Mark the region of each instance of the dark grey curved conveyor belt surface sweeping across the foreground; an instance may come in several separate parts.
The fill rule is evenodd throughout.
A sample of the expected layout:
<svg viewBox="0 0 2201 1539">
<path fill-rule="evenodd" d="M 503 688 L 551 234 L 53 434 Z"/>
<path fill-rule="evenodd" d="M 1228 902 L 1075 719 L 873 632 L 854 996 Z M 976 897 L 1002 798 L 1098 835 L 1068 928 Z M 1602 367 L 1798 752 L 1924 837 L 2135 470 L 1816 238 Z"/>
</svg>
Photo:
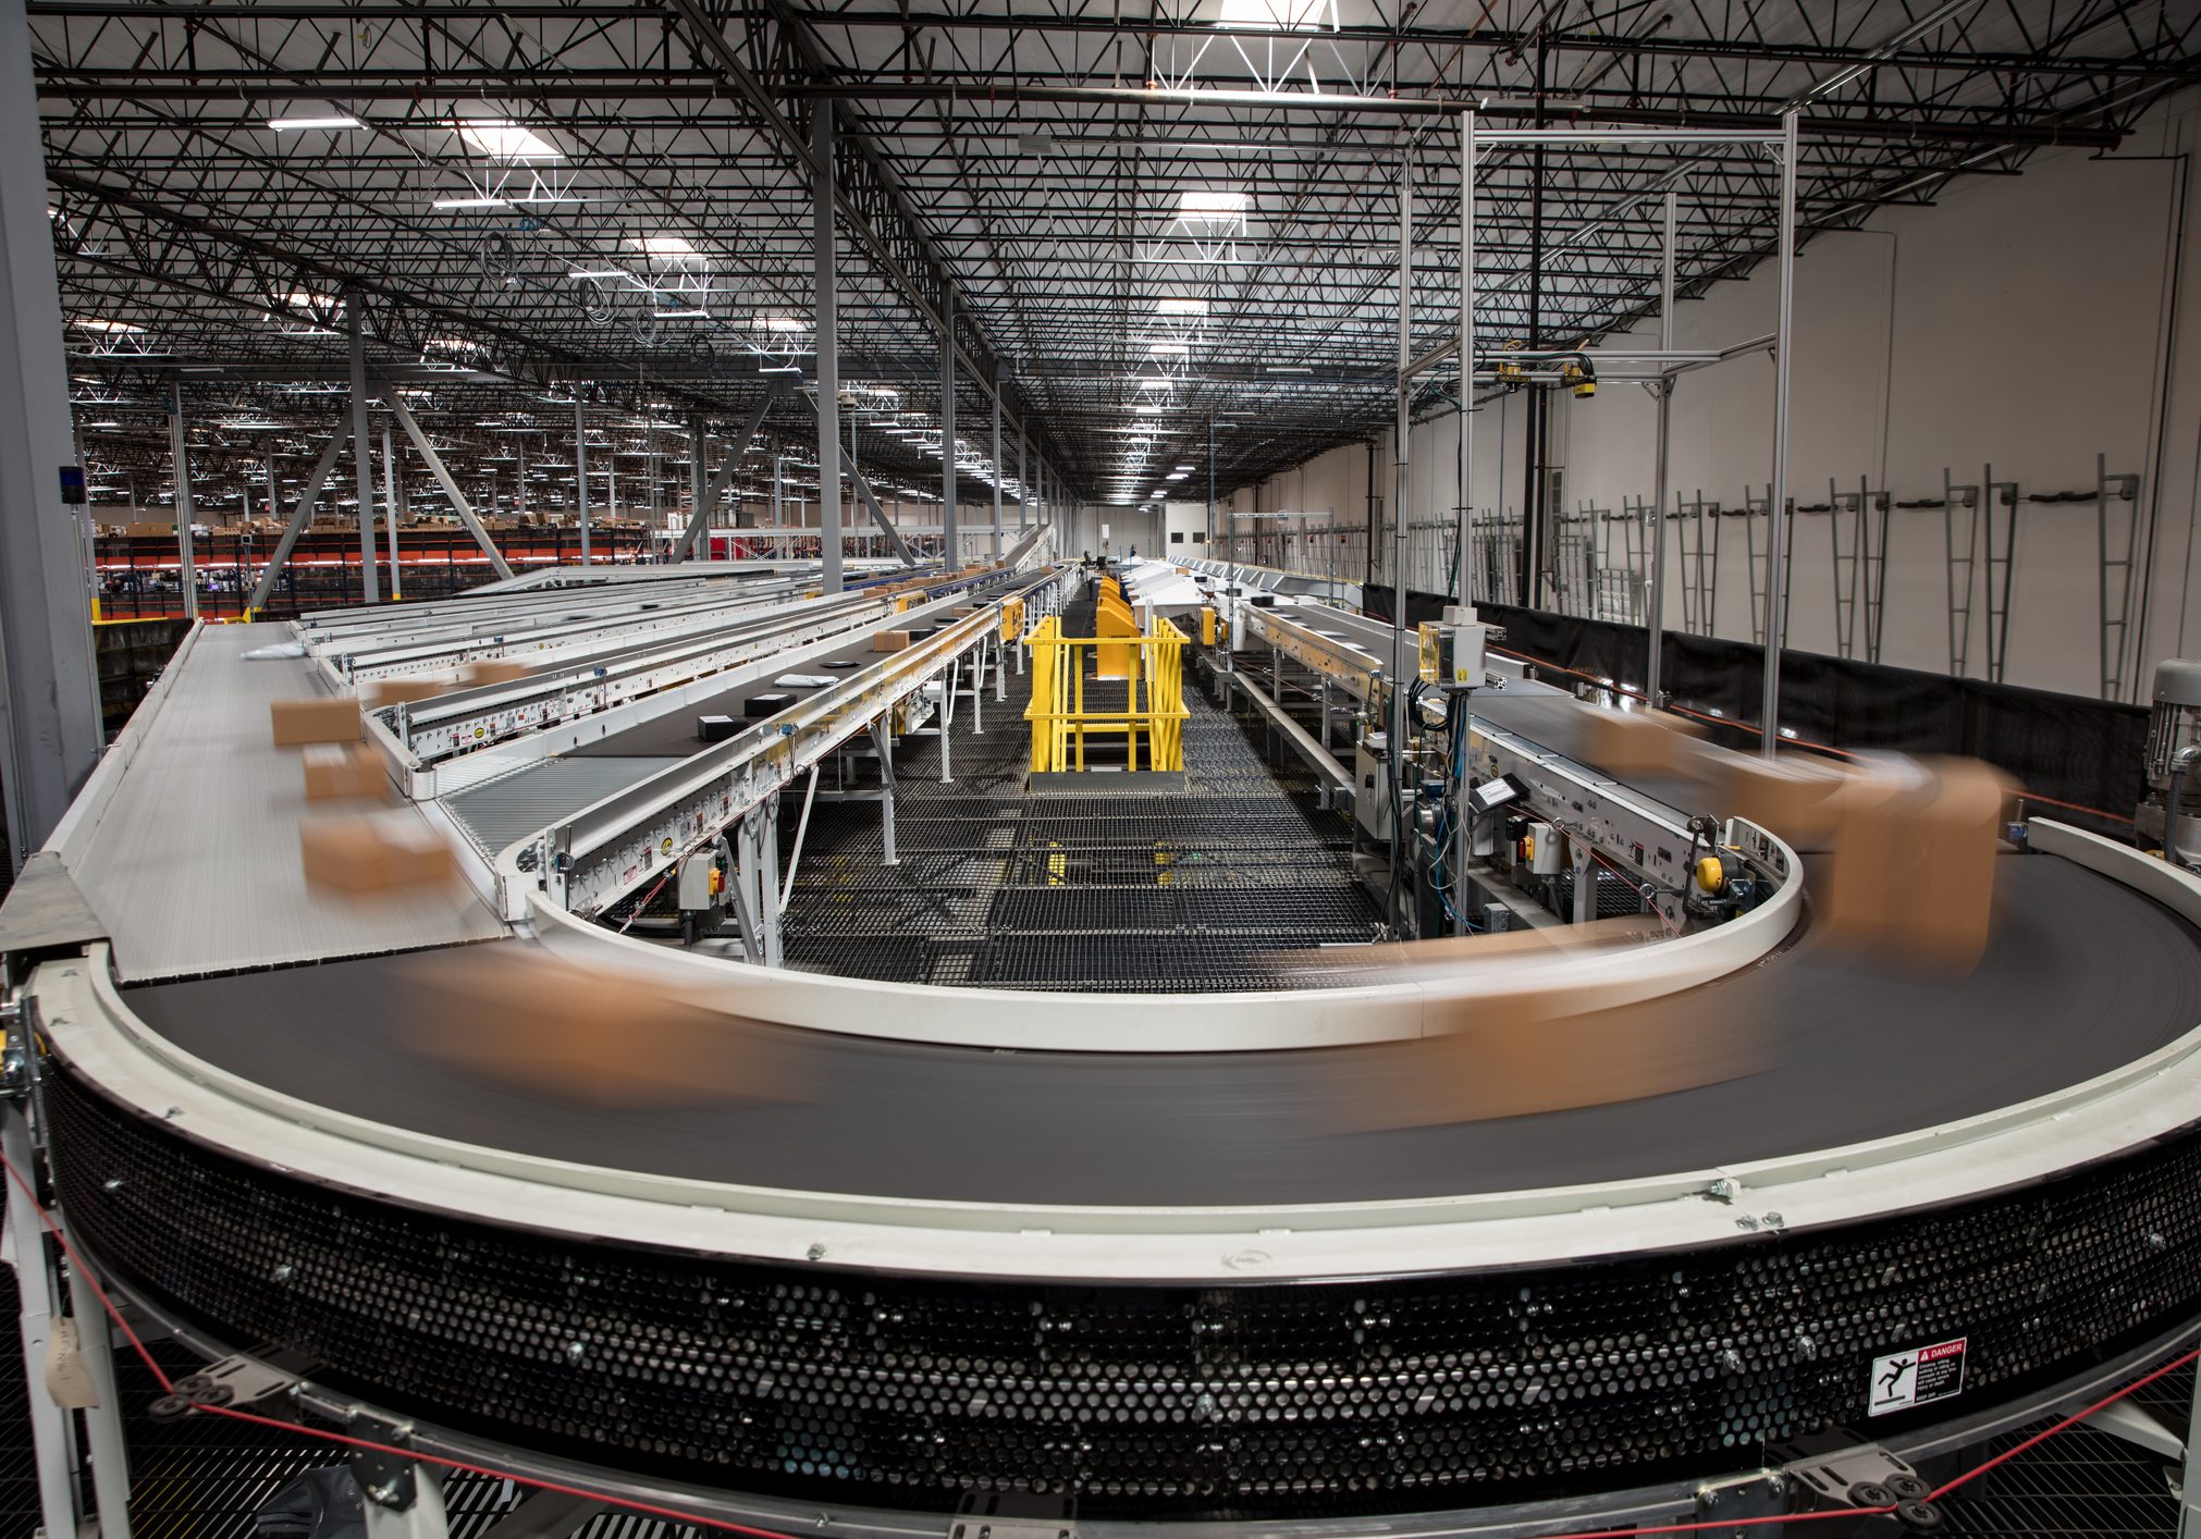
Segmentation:
<svg viewBox="0 0 2201 1539">
<path fill-rule="evenodd" d="M 1767 1066 L 1578 1112 L 1323 1134 L 1395 1048 L 1228 1057 L 801 1044 L 810 1096 L 614 1114 L 425 1061 L 390 960 L 130 991 L 178 1046 L 376 1121 L 559 1160 L 847 1191 L 1070 1204 L 1345 1202 L 1622 1180 L 1800 1154 L 2005 1107 L 2201 1022 L 2201 936 L 2054 856 L 2010 854 L 2003 918 L 1961 984 L 1884 975 L 1809 936 L 1699 1011 Z M 1708 1072 L 1719 1072 L 1717 1063 Z"/>
</svg>

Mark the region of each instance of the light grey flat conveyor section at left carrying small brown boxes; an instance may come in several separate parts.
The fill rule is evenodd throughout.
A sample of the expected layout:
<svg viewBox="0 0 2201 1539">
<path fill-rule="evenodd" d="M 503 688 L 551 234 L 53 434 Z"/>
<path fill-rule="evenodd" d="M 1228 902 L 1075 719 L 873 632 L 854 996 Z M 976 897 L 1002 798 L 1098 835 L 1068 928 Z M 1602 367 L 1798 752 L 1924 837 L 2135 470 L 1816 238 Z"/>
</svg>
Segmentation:
<svg viewBox="0 0 2201 1539">
<path fill-rule="evenodd" d="M 295 749 L 269 735 L 269 702 L 324 694 L 297 658 L 249 661 L 286 625 L 207 625 L 158 705 L 70 874 L 114 936 L 125 980 L 326 956 L 405 951 L 504 934 L 471 892 L 346 903 L 306 887 L 306 808 Z M 418 817 L 418 812 L 407 812 Z"/>
</svg>

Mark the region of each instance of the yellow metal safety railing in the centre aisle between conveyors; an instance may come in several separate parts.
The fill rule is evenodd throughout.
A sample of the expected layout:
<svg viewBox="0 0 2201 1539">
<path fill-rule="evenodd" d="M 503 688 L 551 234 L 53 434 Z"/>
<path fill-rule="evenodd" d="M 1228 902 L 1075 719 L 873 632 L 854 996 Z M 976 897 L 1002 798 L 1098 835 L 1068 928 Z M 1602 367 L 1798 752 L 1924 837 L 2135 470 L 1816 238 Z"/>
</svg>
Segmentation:
<svg viewBox="0 0 2201 1539">
<path fill-rule="evenodd" d="M 1184 718 L 1191 711 L 1184 707 L 1182 630 L 1158 619 L 1145 636 L 1136 630 L 1129 636 L 1065 636 L 1061 616 L 1050 614 L 1032 627 L 1026 645 L 1032 650 L 1032 705 L 1023 720 L 1032 724 L 1034 775 L 1083 771 L 1085 738 L 1094 733 L 1125 740 L 1125 768 L 1184 768 Z M 1085 647 L 1094 650 L 1092 683 L 1120 683 L 1123 709 L 1098 698 L 1085 702 Z M 1123 672 L 1109 674 L 1103 658 L 1116 661 Z M 1145 766 L 1140 742 L 1147 744 Z"/>
</svg>

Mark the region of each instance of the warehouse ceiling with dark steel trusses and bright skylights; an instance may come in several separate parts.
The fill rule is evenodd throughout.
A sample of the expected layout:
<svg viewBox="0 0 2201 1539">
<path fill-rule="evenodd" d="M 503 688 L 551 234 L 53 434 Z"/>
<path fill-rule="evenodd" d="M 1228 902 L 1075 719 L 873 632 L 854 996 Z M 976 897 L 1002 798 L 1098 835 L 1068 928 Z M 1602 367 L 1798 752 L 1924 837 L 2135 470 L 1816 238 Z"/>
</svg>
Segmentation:
<svg viewBox="0 0 2201 1539">
<path fill-rule="evenodd" d="M 2201 79 L 2183 0 L 29 9 L 73 370 L 97 407 L 79 432 L 132 476 L 156 473 L 178 374 L 202 473 L 313 454 L 339 412 L 313 392 L 346 374 L 346 295 L 372 372 L 407 381 L 462 476 L 533 434 L 548 478 L 574 399 L 601 405 L 614 456 L 634 451 L 621 434 L 671 449 L 691 418 L 744 423 L 812 372 L 823 99 L 865 476 L 938 493 L 951 315 L 966 498 L 1019 473 L 979 427 L 999 390 L 1008 440 L 1023 425 L 1072 495 L 1140 502 L 1206 493 L 1211 425 L 1219 491 L 1384 427 L 1400 170 L 1424 354 L 1453 330 L 1468 106 L 1488 125 L 1798 110 L 1809 240 L 2043 148 L 2113 148 Z M 1547 348 L 1640 324 L 1666 189 L 1677 291 L 1745 275 L 1774 244 L 1776 183 L 1752 145 L 1492 150 L 1479 332 Z M 1457 385 L 1431 370 L 1420 390 L 1428 410 Z M 814 407 L 788 390 L 762 432 L 808 458 Z"/>
</svg>

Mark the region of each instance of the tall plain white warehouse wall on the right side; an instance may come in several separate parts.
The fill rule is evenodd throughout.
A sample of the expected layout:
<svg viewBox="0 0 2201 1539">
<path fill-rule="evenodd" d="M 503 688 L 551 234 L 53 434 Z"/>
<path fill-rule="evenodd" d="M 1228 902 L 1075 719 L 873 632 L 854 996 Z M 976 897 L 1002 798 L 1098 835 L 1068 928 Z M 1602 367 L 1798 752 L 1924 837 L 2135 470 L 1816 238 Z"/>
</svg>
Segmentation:
<svg viewBox="0 0 2201 1539">
<path fill-rule="evenodd" d="M 2201 92 L 2186 92 L 2113 156 L 2047 152 L 2016 178 L 1963 178 L 1937 207 L 1884 209 L 1862 231 L 1816 236 L 1796 262 L 1789 493 L 1798 504 L 1827 502 L 1829 478 L 1842 489 L 1862 478 L 1897 502 L 1939 498 L 1943 467 L 1957 482 L 1976 482 L 1992 465 L 1996 480 L 2016 480 L 2025 495 L 2091 489 L 2095 454 L 2106 456 L 2111 473 L 2142 476 L 2146 579 L 2133 594 L 2131 652 L 2139 665 L 2122 665 L 2126 698 L 2135 685 L 2146 698 L 2157 658 L 2201 652 L 2201 207 L 2181 189 L 2188 163 L 2161 159 L 2197 145 Z M 1677 310 L 1675 346 L 1712 348 L 1770 332 L 1774 299 L 1772 264 L 1723 282 Z M 1635 341 L 1655 343 L 1655 332 Z M 1701 489 L 1726 506 L 1741 506 L 1745 487 L 1763 495 L 1772 379 L 1772 359 L 1754 352 L 1679 381 L 1675 493 Z M 1479 509 L 1521 506 L 1521 418 L 1519 401 L 1477 412 Z M 1457 416 L 1415 427 L 1411 520 L 1453 515 L 1457 443 Z M 1387 449 L 1378 451 L 1376 482 L 1389 506 Z M 1565 467 L 1569 509 L 1620 509 L 1624 498 L 1649 495 L 1653 449 L 1655 407 L 1640 385 L 1609 381 L 1594 401 L 1556 396 L 1552 460 Z M 1365 447 L 1336 449 L 1252 489 L 1255 500 L 1266 509 L 1334 502 L 1360 522 L 1365 467 Z M 1723 520 L 1723 533 L 1719 632 L 1748 638 L 1741 520 Z M 1946 672 L 1941 511 L 1895 509 L 1888 553 L 1882 661 Z M 1794 520 L 1794 561 L 1789 645 L 1833 652 L 1825 515 Z M 2010 683 L 2100 691 L 2100 570 L 2091 500 L 2018 509 Z M 1988 650 L 1983 581 L 1981 570 L 1968 667 L 1974 676 Z M 1675 581 L 1666 623 L 1679 621 Z"/>
</svg>

